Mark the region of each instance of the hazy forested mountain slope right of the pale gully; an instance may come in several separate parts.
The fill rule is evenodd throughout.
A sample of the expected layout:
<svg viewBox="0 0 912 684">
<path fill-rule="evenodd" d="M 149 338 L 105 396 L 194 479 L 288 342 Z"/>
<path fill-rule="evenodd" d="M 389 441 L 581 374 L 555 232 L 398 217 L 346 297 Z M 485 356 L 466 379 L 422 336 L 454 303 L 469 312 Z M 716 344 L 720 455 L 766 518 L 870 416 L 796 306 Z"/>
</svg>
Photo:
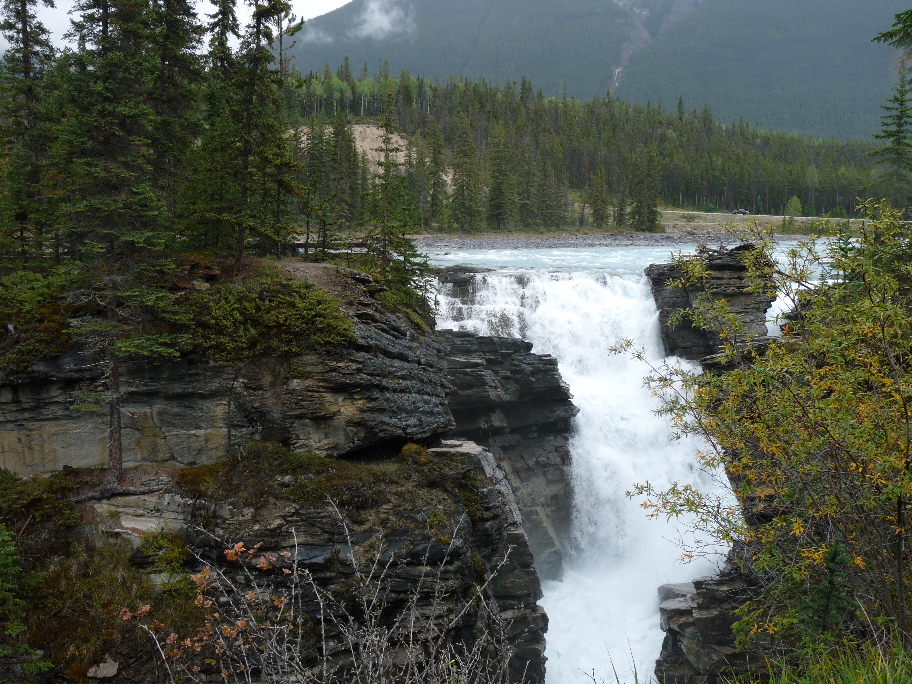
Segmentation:
<svg viewBox="0 0 912 684">
<path fill-rule="evenodd" d="M 893 54 L 871 38 L 903 0 L 714 0 L 634 54 L 617 95 L 719 120 L 862 139 L 880 128 L 872 106 L 895 80 Z"/>
</svg>

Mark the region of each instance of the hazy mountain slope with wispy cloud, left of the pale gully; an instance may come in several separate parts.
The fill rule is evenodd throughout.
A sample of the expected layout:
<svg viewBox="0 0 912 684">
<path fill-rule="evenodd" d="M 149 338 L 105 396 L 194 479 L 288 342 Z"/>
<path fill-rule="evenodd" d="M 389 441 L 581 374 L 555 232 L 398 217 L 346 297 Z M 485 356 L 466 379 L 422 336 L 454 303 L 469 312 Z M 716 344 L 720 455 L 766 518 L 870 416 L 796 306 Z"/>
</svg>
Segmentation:
<svg viewBox="0 0 912 684">
<path fill-rule="evenodd" d="M 308 22 L 293 52 L 304 73 L 348 56 L 356 68 L 388 61 L 429 77 L 534 75 L 549 94 L 566 81 L 590 96 L 604 94 L 622 50 L 648 40 L 643 33 L 610 0 L 355 0 Z"/>
</svg>

